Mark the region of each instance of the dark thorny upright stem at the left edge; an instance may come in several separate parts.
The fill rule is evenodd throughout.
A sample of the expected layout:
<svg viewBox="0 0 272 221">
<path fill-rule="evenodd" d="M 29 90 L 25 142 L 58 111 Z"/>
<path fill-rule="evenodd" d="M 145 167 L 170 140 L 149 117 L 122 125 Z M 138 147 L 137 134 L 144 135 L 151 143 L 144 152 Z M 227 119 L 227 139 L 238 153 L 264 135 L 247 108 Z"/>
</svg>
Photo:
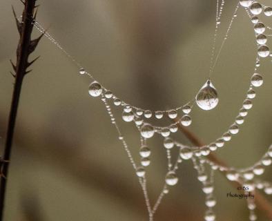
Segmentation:
<svg viewBox="0 0 272 221">
<path fill-rule="evenodd" d="M 17 22 L 17 28 L 19 30 L 20 38 L 19 44 L 17 46 L 17 63 L 14 65 L 12 63 L 12 67 L 14 69 L 15 74 L 12 74 L 15 78 L 14 90 L 12 95 L 12 103 L 10 106 L 10 116 L 8 119 L 8 130 L 6 134 L 6 144 L 3 153 L 3 160 L 10 162 L 10 154 L 12 151 L 12 140 L 14 135 L 14 127 L 17 117 L 17 110 L 19 106 L 19 99 L 21 93 L 21 86 L 23 83 L 23 77 L 29 73 L 30 71 L 27 68 L 36 60 L 28 62 L 29 55 L 35 50 L 37 44 L 39 43 L 39 39 L 31 40 L 33 23 L 32 20 L 35 19 L 37 15 L 37 6 L 35 6 L 36 0 L 25 0 L 22 1 L 24 5 L 22 21 L 17 19 L 15 12 L 14 17 Z M 8 167 L 10 163 L 4 163 L 2 172 L 3 176 L 1 176 L 1 189 L 0 189 L 0 221 L 3 220 L 3 209 L 5 202 L 5 193 L 6 193 L 6 184 L 8 178 Z"/>
</svg>

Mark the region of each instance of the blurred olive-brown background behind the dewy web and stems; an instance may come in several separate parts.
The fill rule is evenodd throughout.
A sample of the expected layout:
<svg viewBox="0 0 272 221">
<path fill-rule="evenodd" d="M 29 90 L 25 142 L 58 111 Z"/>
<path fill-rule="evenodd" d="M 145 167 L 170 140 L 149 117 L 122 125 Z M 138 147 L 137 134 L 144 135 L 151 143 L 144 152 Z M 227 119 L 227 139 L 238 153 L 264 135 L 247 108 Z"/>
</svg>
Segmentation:
<svg viewBox="0 0 272 221">
<path fill-rule="evenodd" d="M 191 100 L 206 81 L 215 26 L 215 0 L 81 0 L 39 1 L 38 21 L 95 78 L 135 106 L 164 110 Z M 271 3 L 271 1 L 263 1 Z M 222 41 L 237 1 L 227 1 Z M 0 1 L 0 146 L 3 150 L 14 79 L 18 33 L 11 5 Z M 269 17 L 262 21 L 272 26 Z M 35 31 L 35 36 L 38 32 Z M 270 40 L 270 39 L 269 39 Z M 218 49 L 219 44 L 217 44 Z M 194 108 L 190 129 L 203 142 L 222 135 L 235 119 L 255 65 L 255 36 L 240 8 L 212 81 L 220 95 L 213 111 Z M 41 58 L 23 82 L 12 150 L 5 220 L 148 220 L 144 197 L 133 167 L 99 99 L 88 95 L 88 77 L 46 38 L 35 55 Z M 33 55 L 32 57 L 35 57 Z M 216 154 L 243 167 L 259 160 L 272 142 L 271 59 L 262 59 L 264 85 L 253 108 L 233 137 Z M 135 160 L 139 135 L 120 120 Z M 188 140 L 177 133 L 177 139 Z M 164 184 L 166 155 L 162 140 L 152 142 L 148 166 L 151 202 Z M 191 162 L 179 169 L 179 184 L 159 207 L 155 220 L 203 220 L 204 193 Z M 272 181 L 271 168 L 264 180 Z M 226 198 L 235 189 L 215 173 L 217 220 L 248 220 L 244 200 Z M 271 196 L 268 197 L 270 202 Z M 258 212 L 260 220 L 266 220 Z"/>
</svg>

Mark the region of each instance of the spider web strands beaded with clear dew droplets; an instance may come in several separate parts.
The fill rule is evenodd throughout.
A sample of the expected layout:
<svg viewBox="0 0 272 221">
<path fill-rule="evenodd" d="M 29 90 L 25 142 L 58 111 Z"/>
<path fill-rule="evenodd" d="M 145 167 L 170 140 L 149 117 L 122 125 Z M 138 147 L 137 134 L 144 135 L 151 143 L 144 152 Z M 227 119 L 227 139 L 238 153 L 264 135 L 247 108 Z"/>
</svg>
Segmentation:
<svg viewBox="0 0 272 221">
<path fill-rule="evenodd" d="M 219 1 L 217 1 L 217 5 L 218 5 L 218 2 Z M 247 2 L 249 4 L 249 1 L 240 1 L 240 4 L 242 6 L 244 6 L 245 2 Z M 254 7 L 251 5 L 252 5 L 252 3 L 250 4 L 250 6 L 246 6 L 246 7 L 247 8 L 250 7 L 249 10 L 251 13 L 253 13 L 253 15 L 258 15 L 258 14 L 256 14 L 256 12 L 258 11 L 258 10 L 256 10 L 256 7 L 255 7 L 256 4 L 254 4 Z M 222 1 L 221 6 L 224 6 L 224 1 Z M 262 8 L 263 7 L 264 6 L 262 6 Z M 220 15 L 222 13 L 222 7 L 217 6 L 217 10 L 218 10 L 218 8 L 220 8 L 220 12 L 217 11 L 216 28 L 220 24 Z M 246 8 L 246 10 L 247 10 L 247 8 Z M 249 12 L 249 10 L 247 10 L 247 12 Z M 233 19 L 237 16 L 236 11 L 237 11 L 237 8 L 235 8 L 235 14 L 233 15 L 233 18 L 231 19 L 231 24 L 233 23 Z M 259 9 L 259 11 L 260 11 L 260 9 Z M 270 16 L 268 11 L 269 10 L 267 8 L 264 8 L 264 14 L 267 16 Z M 260 21 L 257 17 L 252 17 L 252 22 L 255 24 L 255 26 L 254 26 L 255 33 L 258 34 L 257 38 L 256 38 L 257 43 L 260 44 L 261 46 L 265 46 L 264 44 L 266 43 L 266 37 L 262 36 L 264 33 L 264 30 L 265 30 L 265 26 L 262 26 L 262 24 L 260 24 Z M 52 35 L 50 35 L 48 32 L 46 32 L 46 30 L 44 30 L 39 25 L 39 23 L 37 23 L 37 21 L 35 21 L 35 26 L 38 30 L 40 30 L 41 32 L 44 32 L 46 37 L 48 37 L 48 39 L 50 39 L 50 41 L 52 41 L 59 49 L 61 49 L 65 53 L 66 56 L 70 57 L 70 59 L 72 59 L 72 61 L 74 61 L 77 64 L 77 66 L 80 68 L 79 73 L 81 73 L 81 75 L 88 75 L 93 80 L 95 80 L 93 78 L 93 76 L 90 75 L 90 73 L 88 73 L 86 70 L 84 70 L 84 68 L 79 63 L 77 63 L 77 61 L 75 61 L 75 59 L 73 59 L 72 56 L 70 56 L 68 54 L 68 52 L 66 52 L 66 50 L 64 50 L 64 48 L 62 48 L 60 46 L 60 44 L 57 43 L 57 41 L 55 41 L 55 39 L 52 37 Z M 227 30 L 226 37 L 228 36 L 230 27 L 231 26 L 229 26 L 229 28 Z M 269 36 L 269 35 L 267 35 L 267 36 Z M 224 40 L 226 39 L 226 37 L 224 38 Z M 215 36 L 215 39 L 216 39 L 216 36 Z M 224 45 L 224 42 L 223 42 L 223 45 Z M 222 47 L 220 47 L 220 48 L 222 48 Z M 268 55 L 269 55 L 269 49 L 267 46 L 262 47 L 262 48 L 259 47 L 258 48 L 258 58 L 256 60 L 258 60 L 259 57 L 267 57 Z M 217 59 L 215 59 L 215 60 L 217 60 Z M 257 67 L 259 65 L 260 64 L 256 63 L 255 71 L 257 70 Z M 213 70 L 213 68 L 212 68 L 212 70 Z M 175 133 L 177 131 L 177 127 L 179 126 L 179 124 L 182 124 L 183 126 L 189 126 L 191 124 L 191 117 L 188 115 L 188 113 L 191 112 L 192 101 L 188 102 L 188 104 L 181 106 L 179 108 L 173 108 L 170 111 L 155 111 L 155 114 L 154 114 L 153 111 L 143 110 L 142 108 L 137 108 L 136 106 L 131 106 L 130 104 L 123 102 L 122 100 L 118 99 L 115 95 L 113 95 L 113 93 L 111 93 L 110 90 L 107 90 L 106 88 L 104 88 L 104 86 L 101 86 L 101 84 L 99 84 L 97 81 L 94 81 L 92 84 L 90 84 L 89 94 L 92 95 L 93 97 L 98 97 L 101 95 L 101 100 L 104 102 L 104 104 L 106 106 L 106 109 L 108 111 L 108 115 L 110 116 L 112 123 L 115 125 L 115 128 L 117 129 L 119 140 L 122 141 L 122 144 L 123 144 L 124 149 L 128 155 L 128 158 L 130 159 L 131 164 L 133 164 L 133 168 L 135 169 L 135 173 L 139 177 L 139 183 L 141 184 L 142 190 L 144 192 L 144 197 L 145 197 L 146 206 L 148 209 L 148 214 L 149 214 L 150 220 L 153 220 L 153 214 L 157 210 L 159 203 L 161 202 L 163 196 L 166 193 L 168 193 L 168 186 L 174 186 L 175 184 L 177 184 L 178 177 L 176 175 L 176 171 L 178 168 L 178 164 L 181 163 L 182 160 L 189 160 L 189 159 L 193 160 L 194 164 L 197 164 L 197 162 L 198 162 L 199 166 L 195 166 L 195 169 L 197 169 L 198 180 L 200 180 L 200 182 L 203 182 L 203 191 L 207 195 L 206 196 L 206 205 L 210 209 L 208 209 L 204 218 L 205 218 L 205 220 L 208 220 L 208 221 L 215 220 L 215 215 L 213 213 L 213 210 L 211 209 L 211 207 L 213 207 L 216 204 L 216 201 L 212 195 L 213 182 L 211 182 L 211 181 L 213 180 L 213 175 L 212 175 L 213 172 L 211 172 L 211 175 L 210 175 L 210 182 L 206 182 L 207 175 L 204 172 L 204 163 L 206 162 L 209 166 L 211 166 L 211 171 L 216 170 L 216 169 L 220 169 L 222 171 L 223 170 L 228 171 L 228 173 L 226 173 L 226 174 L 230 180 L 234 179 L 233 176 L 231 175 L 231 174 L 233 174 L 233 169 L 226 169 L 222 166 L 215 165 L 213 162 L 208 162 L 206 159 L 203 159 L 202 157 L 208 155 L 210 153 L 210 151 L 215 151 L 218 147 L 224 146 L 224 142 L 231 140 L 231 136 L 239 132 L 238 124 L 242 124 L 244 122 L 244 117 L 247 115 L 247 111 L 249 109 L 251 109 L 251 107 L 252 107 L 251 99 L 253 99 L 255 97 L 255 91 L 253 90 L 253 87 L 261 86 L 262 83 L 263 83 L 262 76 L 258 73 L 254 73 L 253 76 L 251 77 L 251 86 L 250 86 L 249 91 L 246 95 L 246 99 L 243 102 L 240 113 L 237 116 L 237 118 L 235 119 L 235 123 L 230 126 L 229 131 L 224 133 L 224 135 L 222 135 L 222 137 L 217 139 L 215 142 L 212 142 L 211 144 L 209 144 L 207 146 L 202 146 L 200 148 L 195 147 L 195 146 L 189 147 L 189 146 L 185 146 L 184 144 L 179 144 L 178 142 L 175 142 L 170 137 L 171 133 Z M 208 96 L 211 95 L 211 97 L 205 97 L 207 95 Z M 133 160 L 133 156 L 130 153 L 130 150 L 128 148 L 128 144 L 124 140 L 124 136 L 122 135 L 121 131 L 119 130 L 119 126 L 117 126 L 115 117 L 113 116 L 113 113 L 111 111 L 110 105 L 107 102 L 107 99 L 113 99 L 113 104 L 115 104 L 115 106 L 122 106 L 123 110 L 124 110 L 122 118 L 124 119 L 124 121 L 125 122 L 135 122 L 135 125 L 139 129 L 140 134 L 141 134 L 141 140 L 142 140 L 142 146 L 139 150 L 139 154 L 142 157 L 141 161 L 140 161 L 141 166 L 137 166 L 137 164 Z M 218 102 L 217 91 L 215 90 L 215 87 L 213 86 L 213 84 L 211 83 L 211 81 L 209 79 L 206 82 L 206 84 L 200 89 L 200 92 L 197 94 L 196 102 L 197 102 L 197 105 L 200 106 L 200 108 L 204 107 L 204 108 L 202 108 L 204 110 L 211 109 L 217 105 L 217 102 Z M 185 118 L 185 120 L 179 120 L 177 123 L 171 124 L 168 127 L 153 126 L 151 124 L 147 124 L 142 119 L 142 117 L 149 119 L 153 115 L 155 115 L 155 117 L 157 119 L 162 119 L 162 117 L 164 117 L 164 115 L 167 115 L 170 119 L 175 119 L 177 117 L 177 111 L 179 111 L 179 110 L 182 110 L 182 112 L 185 114 L 183 116 Z M 165 178 L 166 184 L 164 185 L 162 192 L 159 194 L 159 198 L 157 199 L 157 202 L 155 203 L 155 205 L 152 208 L 152 206 L 150 206 L 150 201 L 149 201 L 148 193 L 147 193 L 147 189 L 146 189 L 146 171 L 144 168 L 146 166 L 150 165 L 150 158 L 149 157 L 150 157 L 150 153 L 151 153 L 148 146 L 146 146 L 146 139 L 153 137 L 153 135 L 155 133 L 159 133 L 160 135 L 162 135 L 162 137 L 165 137 L 164 138 L 164 147 L 166 148 L 166 158 L 168 160 L 168 173 L 166 174 L 166 178 Z M 179 156 L 177 157 L 177 161 L 175 162 L 175 164 L 172 164 L 171 163 L 171 148 L 173 148 L 174 146 L 177 146 L 177 148 L 179 148 Z M 259 162 L 254 164 L 253 167 L 251 167 L 253 173 L 255 173 L 255 174 L 259 173 L 257 175 L 261 174 L 262 169 L 260 169 L 260 162 L 262 162 L 262 164 L 264 164 L 265 166 L 269 165 L 269 159 L 267 159 L 268 156 L 271 157 L 271 155 L 269 155 L 269 153 L 271 153 L 271 151 L 266 153 L 265 156 L 262 157 L 262 160 L 260 160 Z M 271 161 L 271 159 L 270 159 L 270 161 Z M 243 171 L 243 173 L 240 171 L 237 171 L 237 173 L 239 174 L 238 177 L 242 177 L 242 175 L 240 175 L 240 174 L 243 174 L 243 177 L 246 176 L 246 179 L 248 179 L 249 177 L 252 177 L 252 174 L 247 173 L 247 172 L 249 172 L 249 170 Z M 237 177 L 237 175 L 235 174 L 234 177 Z M 269 192 L 269 185 L 267 184 L 267 182 L 263 185 L 261 185 L 260 182 L 258 182 L 258 184 L 259 184 L 259 187 L 265 186 L 264 189 L 265 189 L 266 193 L 271 192 L 271 191 Z M 254 206 L 252 206 L 252 204 L 251 204 L 251 206 L 249 206 L 249 207 L 253 208 Z M 255 214 L 253 214 L 253 215 L 251 214 L 250 220 L 255 220 L 255 219 L 253 219 L 254 215 Z"/>
</svg>

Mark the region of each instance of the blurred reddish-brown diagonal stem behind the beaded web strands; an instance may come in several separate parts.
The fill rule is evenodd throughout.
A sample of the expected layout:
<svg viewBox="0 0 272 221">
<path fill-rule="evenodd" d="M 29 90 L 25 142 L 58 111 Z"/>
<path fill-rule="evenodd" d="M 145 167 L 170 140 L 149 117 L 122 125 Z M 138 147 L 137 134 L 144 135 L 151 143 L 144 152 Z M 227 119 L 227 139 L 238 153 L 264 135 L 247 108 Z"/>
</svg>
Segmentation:
<svg viewBox="0 0 272 221">
<path fill-rule="evenodd" d="M 177 124 L 179 131 L 182 131 L 182 133 L 184 133 L 184 135 L 188 138 L 188 140 L 191 141 L 192 144 L 194 144 L 195 146 L 204 146 L 204 143 L 200 141 L 200 139 L 193 134 L 191 131 L 189 131 L 187 128 L 185 128 L 184 126 Z M 226 163 L 222 160 L 220 160 L 214 153 L 210 153 L 207 156 L 208 160 L 210 160 L 211 162 L 215 162 L 216 164 L 220 165 L 220 166 L 224 166 L 227 167 Z M 224 171 L 220 171 L 222 173 L 225 173 Z M 231 184 L 233 184 L 235 187 L 240 186 L 240 182 L 235 182 L 232 181 Z M 269 220 L 272 220 L 272 206 L 269 203 L 268 200 L 266 200 L 266 198 L 264 198 L 263 195 L 261 195 L 258 191 L 255 191 L 255 204 L 258 206 L 258 209 L 260 209 L 260 211 L 263 211 L 264 214 L 266 215 L 267 218 L 269 218 Z"/>
</svg>

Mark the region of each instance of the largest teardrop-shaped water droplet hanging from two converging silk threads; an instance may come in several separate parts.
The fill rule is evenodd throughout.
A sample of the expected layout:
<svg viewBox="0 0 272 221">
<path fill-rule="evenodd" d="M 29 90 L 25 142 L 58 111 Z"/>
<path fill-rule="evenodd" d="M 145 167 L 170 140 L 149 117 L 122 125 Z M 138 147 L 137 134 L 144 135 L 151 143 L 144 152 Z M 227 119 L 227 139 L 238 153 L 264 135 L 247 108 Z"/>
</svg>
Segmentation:
<svg viewBox="0 0 272 221">
<path fill-rule="evenodd" d="M 218 95 L 215 87 L 210 80 L 206 81 L 196 96 L 197 106 L 202 110 L 208 111 L 218 104 Z"/>
</svg>

